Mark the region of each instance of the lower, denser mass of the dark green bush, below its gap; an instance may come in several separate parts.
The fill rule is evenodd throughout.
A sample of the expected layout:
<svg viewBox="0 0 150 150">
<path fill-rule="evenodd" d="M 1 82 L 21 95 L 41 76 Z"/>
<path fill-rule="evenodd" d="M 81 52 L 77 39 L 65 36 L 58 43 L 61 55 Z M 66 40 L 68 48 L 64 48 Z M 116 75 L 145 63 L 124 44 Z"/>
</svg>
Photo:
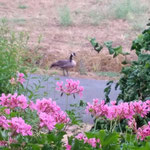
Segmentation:
<svg viewBox="0 0 150 150">
<path fill-rule="evenodd" d="M 122 69 L 123 76 L 117 83 L 121 90 L 117 100 L 133 101 L 141 99 L 144 101 L 150 97 L 149 61 L 149 55 L 141 54 L 137 62 L 133 62 L 130 67 Z"/>
</svg>

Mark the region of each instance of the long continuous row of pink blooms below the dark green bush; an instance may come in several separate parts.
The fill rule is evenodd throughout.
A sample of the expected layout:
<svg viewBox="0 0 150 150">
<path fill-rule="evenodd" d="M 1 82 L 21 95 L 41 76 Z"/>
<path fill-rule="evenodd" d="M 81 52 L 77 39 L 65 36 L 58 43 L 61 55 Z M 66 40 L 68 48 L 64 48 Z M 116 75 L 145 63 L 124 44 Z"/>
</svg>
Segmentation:
<svg viewBox="0 0 150 150">
<path fill-rule="evenodd" d="M 95 118 L 106 117 L 109 120 L 132 119 L 136 115 L 145 117 L 150 110 L 149 104 L 150 100 L 147 100 L 146 102 L 122 102 L 115 105 L 114 102 L 105 104 L 104 100 L 99 103 L 98 99 L 94 99 L 93 104 L 88 103 L 86 111 L 91 113 Z"/>
</svg>

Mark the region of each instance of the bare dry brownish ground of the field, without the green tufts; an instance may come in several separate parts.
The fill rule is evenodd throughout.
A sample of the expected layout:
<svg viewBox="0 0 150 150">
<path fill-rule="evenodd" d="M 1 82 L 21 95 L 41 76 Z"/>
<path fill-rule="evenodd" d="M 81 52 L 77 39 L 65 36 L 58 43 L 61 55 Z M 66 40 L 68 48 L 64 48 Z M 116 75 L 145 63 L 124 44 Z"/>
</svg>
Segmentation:
<svg viewBox="0 0 150 150">
<path fill-rule="evenodd" d="M 40 56 L 36 62 L 40 68 L 49 68 L 53 62 L 68 59 L 75 52 L 77 67 L 72 71 L 78 74 L 119 72 L 125 58 L 118 56 L 114 59 L 105 48 L 97 53 L 88 38 L 95 37 L 99 43 L 113 41 L 113 46 L 122 45 L 127 52 L 139 31 L 133 31 L 128 21 L 122 19 L 110 18 L 98 24 L 91 23 L 88 20 L 88 11 L 103 8 L 103 5 L 105 3 L 100 0 L 1 0 L 0 16 L 5 17 L 14 30 L 30 34 L 31 50 L 34 50 L 38 37 L 42 35 L 39 50 L 36 52 Z M 59 12 L 64 6 L 70 10 L 72 23 L 69 26 L 60 23 Z M 136 59 L 134 52 L 127 57 L 128 61 Z"/>
</svg>

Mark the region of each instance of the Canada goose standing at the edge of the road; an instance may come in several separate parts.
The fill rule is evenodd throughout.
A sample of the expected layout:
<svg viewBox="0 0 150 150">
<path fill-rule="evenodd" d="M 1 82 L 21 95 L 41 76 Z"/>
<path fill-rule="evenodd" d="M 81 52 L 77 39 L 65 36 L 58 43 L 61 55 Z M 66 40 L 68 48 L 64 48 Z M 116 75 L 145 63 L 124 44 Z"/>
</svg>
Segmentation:
<svg viewBox="0 0 150 150">
<path fill-rule="evenodd" d="M 63 69 L 63 75 L 65 76 L 65 71 L 66 71 L 67 76 L 68 76 L 69 75 L 68 69 L 76 66 L 76 62 L 73 60 L 73 56 L 76 56 L 76 54 L 72 53 L 69 57 L 69 60 L 59 60 L 59 61 L 53 63 L 50 68 L 60 67 L 61 69 Z"/>
</svg>

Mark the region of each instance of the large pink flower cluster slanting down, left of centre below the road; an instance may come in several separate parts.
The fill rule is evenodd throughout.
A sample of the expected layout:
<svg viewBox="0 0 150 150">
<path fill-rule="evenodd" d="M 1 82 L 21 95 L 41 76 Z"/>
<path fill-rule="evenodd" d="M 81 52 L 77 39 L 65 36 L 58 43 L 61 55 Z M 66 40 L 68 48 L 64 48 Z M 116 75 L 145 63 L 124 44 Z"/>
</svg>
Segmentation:
<svg viewBox="0 0 150 150">
<path fill-rule="evenodd" d="M 37 110 L 41 127 L 46 126 L 49 130 L 53 130 L 57 123 L 69 122 L 67 114 L 52 99 L 38 99 L 36 104 L 32 103 L 30 107 Z"/>
</svg>

